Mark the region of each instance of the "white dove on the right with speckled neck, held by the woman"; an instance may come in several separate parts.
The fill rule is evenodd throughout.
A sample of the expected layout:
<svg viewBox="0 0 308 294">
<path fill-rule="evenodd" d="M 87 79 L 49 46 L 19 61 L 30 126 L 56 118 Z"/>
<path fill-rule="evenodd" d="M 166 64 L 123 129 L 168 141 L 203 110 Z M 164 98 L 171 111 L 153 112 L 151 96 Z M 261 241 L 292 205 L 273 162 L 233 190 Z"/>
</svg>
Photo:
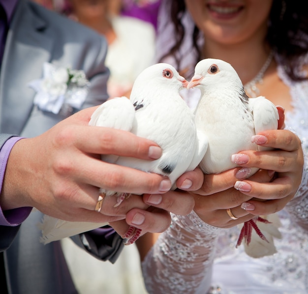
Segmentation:
<svg viewBox="0 0 308 294">
<path fill-rule="evenodd" d="M 195 111 L 196 126 L 208 138 L 208 149 L 199 165 L 204 173 L 216 174 L 236 167 L 231 161 L 232 154 L 243 150 L 266 149 L 253 144 L 251 137 L 261 131 L 277 129 L 277 108 L 263 96 L 248 99 L 237 72 L 229 63 L 220 59 L 199 61 L 187 86 L 192 87 L 201 90 Z M 250 175 L 257 170 L 251 169 Z M 265 243 L 268 242 L 256 221 L 268 223 L 261 217 L 245 222 L 237 246 L 243 237 L 246 244 L 250 243 L 252 228 Z M 246 253 L 254 255 L 248 249 Z"/>
</svg>

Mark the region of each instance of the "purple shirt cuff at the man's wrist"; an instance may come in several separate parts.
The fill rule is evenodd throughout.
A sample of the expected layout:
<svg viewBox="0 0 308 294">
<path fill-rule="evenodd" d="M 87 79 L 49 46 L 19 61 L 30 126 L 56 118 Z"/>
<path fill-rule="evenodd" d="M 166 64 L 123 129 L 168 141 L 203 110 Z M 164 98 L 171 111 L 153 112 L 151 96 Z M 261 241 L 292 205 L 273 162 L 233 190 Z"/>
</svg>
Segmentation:
<svg viewBox="0 0 308 294">
<path fill-rule="evenodd" d="M 8 156 L 11 149 L 17 141 L 23 139 L 21 137 L 12 137 L 8 139 L 0 150 L 0 192 L 2 189 L 5 168 Z M 15 227 L 20 225 L 30 214 L 32 207 L 20 207 L 16 209 L 9 209 L 2 211 L 0 206 L 0 226 Z"/>
</svg>

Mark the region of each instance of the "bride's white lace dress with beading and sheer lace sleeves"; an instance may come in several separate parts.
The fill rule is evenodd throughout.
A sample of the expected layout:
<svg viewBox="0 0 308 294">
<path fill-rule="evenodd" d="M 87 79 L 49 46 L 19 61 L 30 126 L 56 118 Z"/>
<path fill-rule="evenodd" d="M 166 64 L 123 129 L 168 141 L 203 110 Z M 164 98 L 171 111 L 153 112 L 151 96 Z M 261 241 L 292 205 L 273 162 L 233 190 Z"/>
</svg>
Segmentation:
<svg viewBox="0 0 308 294">
<path fill-rule="evenodd" d="M 278 73 L 291 90 L 294 111 L 285 122 L 302 139 L 305 165 L 296 196 L 278 213 L 277 253 L 251 258 L 243 245 L 235 248 L 237 227 L 212 227 L 194 212 L 173 215 L 142 264 L 150 294 L 308 294 L 308 83 Z"/>
</svg>

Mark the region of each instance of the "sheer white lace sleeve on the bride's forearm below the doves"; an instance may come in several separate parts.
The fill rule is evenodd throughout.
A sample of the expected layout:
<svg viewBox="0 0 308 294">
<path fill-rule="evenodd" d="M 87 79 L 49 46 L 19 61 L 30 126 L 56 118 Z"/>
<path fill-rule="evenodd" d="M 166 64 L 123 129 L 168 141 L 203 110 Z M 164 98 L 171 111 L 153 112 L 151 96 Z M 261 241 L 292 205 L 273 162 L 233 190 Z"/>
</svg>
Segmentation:
<svg viewBox="0 0 308 294">
<path fill-rule="evenodd" d="M 171 226 L 142 263 L 148 292 L 207 293 L 221 230 L 204 223 L 194 211 L 187 216 L 172 214 Z"/>
</svg>

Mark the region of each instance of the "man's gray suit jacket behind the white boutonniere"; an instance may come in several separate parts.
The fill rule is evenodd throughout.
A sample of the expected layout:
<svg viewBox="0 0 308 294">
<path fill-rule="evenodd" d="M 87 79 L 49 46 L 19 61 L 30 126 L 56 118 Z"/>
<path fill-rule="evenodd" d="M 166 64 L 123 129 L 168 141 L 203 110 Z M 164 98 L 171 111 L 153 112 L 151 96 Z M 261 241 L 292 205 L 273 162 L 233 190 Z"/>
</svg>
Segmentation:
<svg viewBox="0 0 308 294">
<path fill-rule="evenodd" d="M 63 119 L 33 107 L 35 92 L 27 84 L 42 77 L 46 61 L 84 70 L 91 86 L 83 107 L 106 100 L 106 51 L 105 39 L 92 30 L 20 0 L 8 31 L 0 72 L 0 147 L 10 136 L 5 133 L 33 137 Z M 10 293 L 76 293 L 60 242 L 39 243 L 40 232 L 35 224 L 40 219 L 40 213 L 32 212 L 19 227 L 0 226 L 0 251 L 10 245 L 4 253 Z"/>
</svg>

